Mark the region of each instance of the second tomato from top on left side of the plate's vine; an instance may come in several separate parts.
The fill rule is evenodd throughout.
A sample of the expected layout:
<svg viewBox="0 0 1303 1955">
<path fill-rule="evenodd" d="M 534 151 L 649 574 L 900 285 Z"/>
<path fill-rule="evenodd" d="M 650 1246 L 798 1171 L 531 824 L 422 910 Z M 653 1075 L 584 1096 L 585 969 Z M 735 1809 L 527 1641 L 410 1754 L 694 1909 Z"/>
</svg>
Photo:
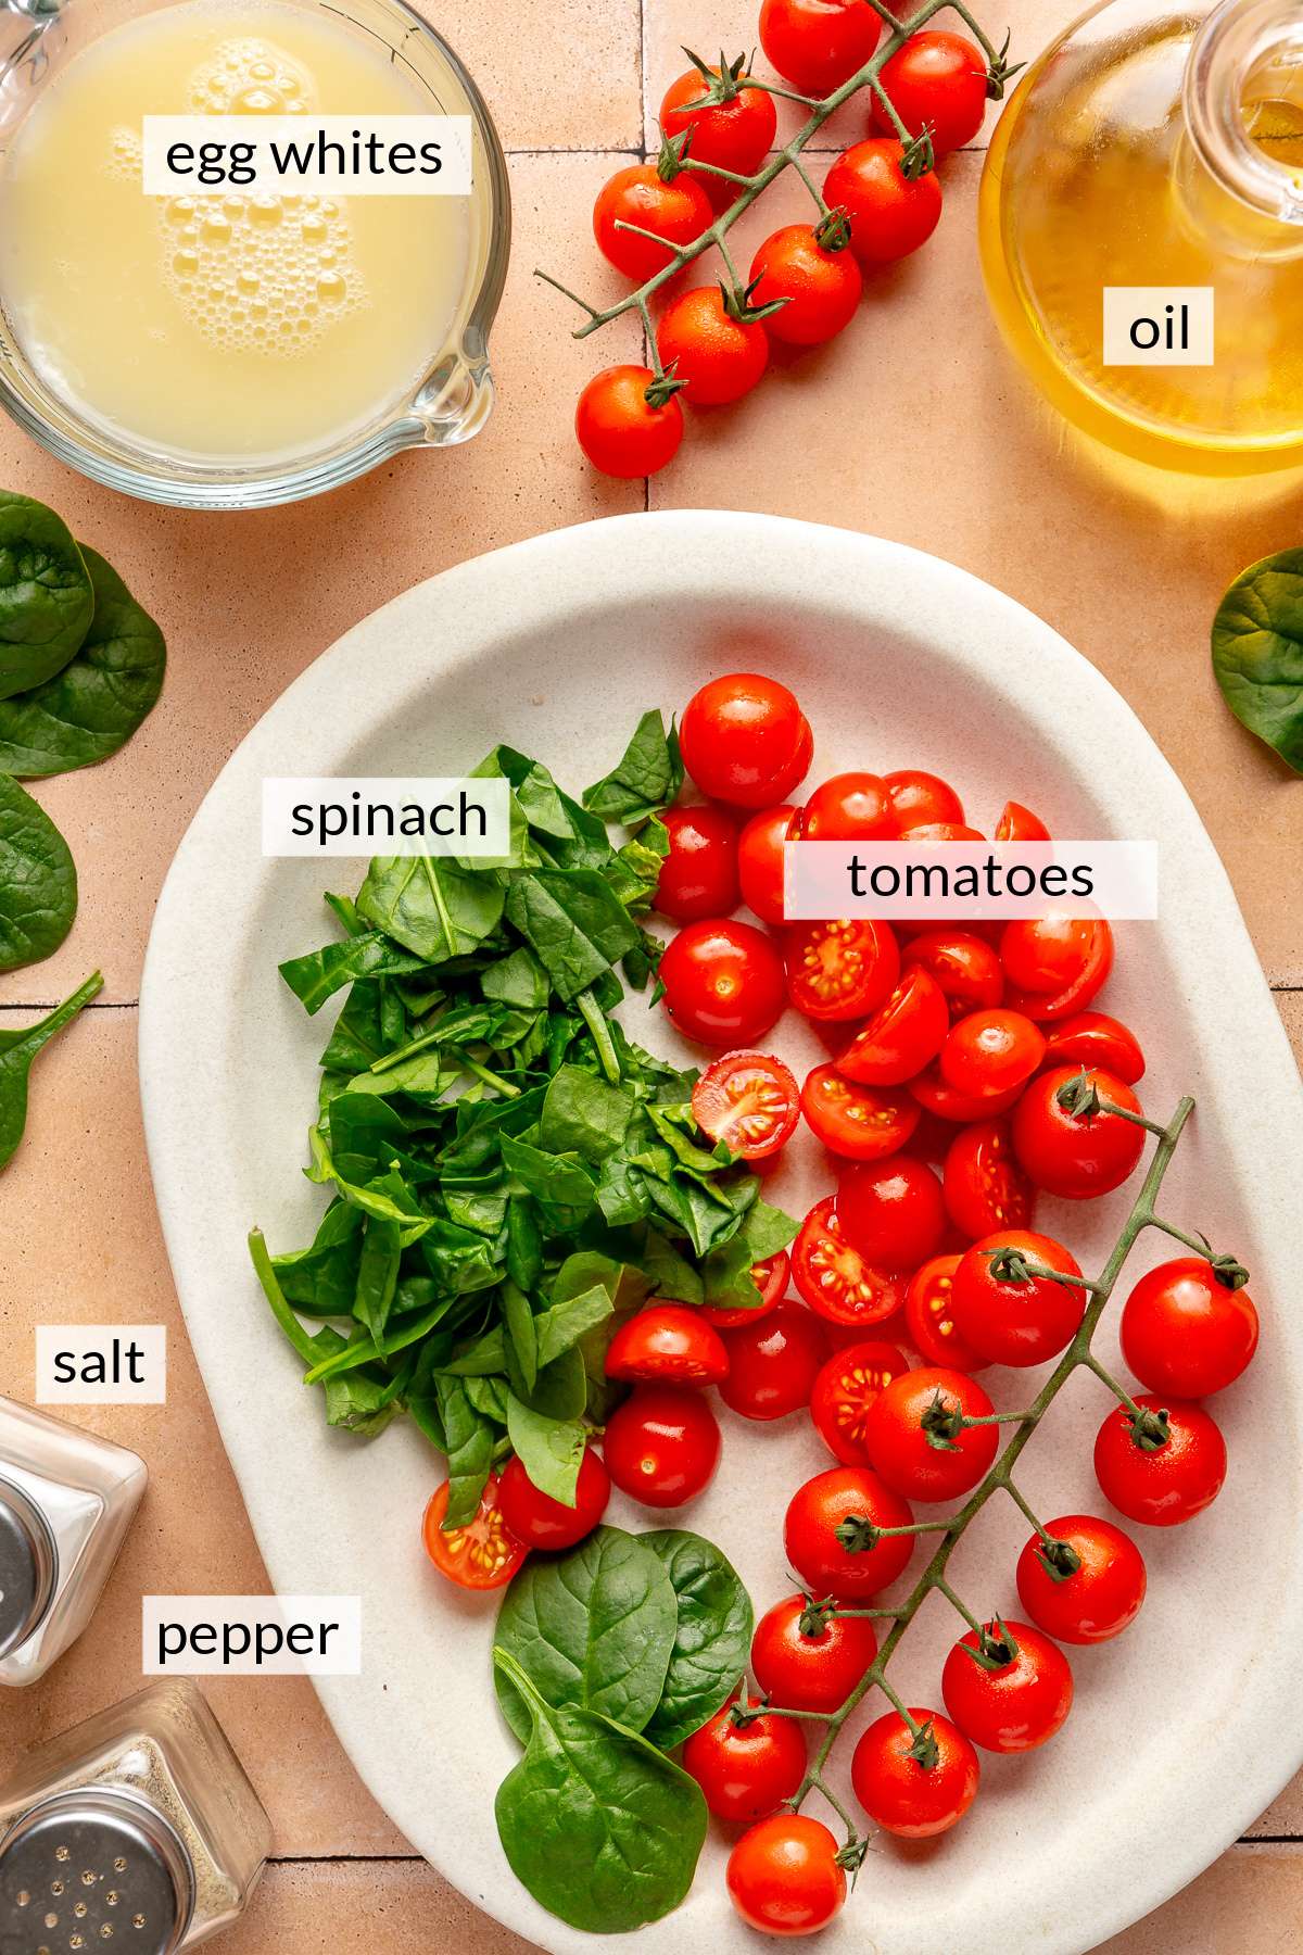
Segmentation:
<svg viewBox="0 0 1303 1955">
<path fill-rule="evenodd" d="M 953 1318 L 959 1337 L 988 1365 L 1043 1365 L 1076 1337 L 1088 1292 L 1076 1282 L 1055 1282 L 1049 1277 L 1002 1282 L 994 1275 L 996 1249 L 1014 1249 L 1028 1263 L 1043 1263 L 1069 1277 L 1080 1277 L 1080 1265 L 1053 1236 L 1004 1228 L 975 1241 L 955 1271 Z"/>
</svg>

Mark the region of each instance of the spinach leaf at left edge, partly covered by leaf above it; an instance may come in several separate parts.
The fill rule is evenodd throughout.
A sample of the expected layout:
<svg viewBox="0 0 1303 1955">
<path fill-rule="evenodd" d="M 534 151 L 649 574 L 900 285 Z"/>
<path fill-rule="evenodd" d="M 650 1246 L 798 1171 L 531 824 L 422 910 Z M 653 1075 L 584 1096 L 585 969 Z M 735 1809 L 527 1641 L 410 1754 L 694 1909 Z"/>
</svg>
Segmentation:
<svg viewBox="0 0 1303 1955">
<path fill-rule="evenodd" d="M 82 543 L 82 559 L 94 616 L 80 649 L 51 678 L 0 698 L 0 768 L 23 780 L 107 760 L 162 692 L 162 631 L 98 549 Z"/>
</svg>

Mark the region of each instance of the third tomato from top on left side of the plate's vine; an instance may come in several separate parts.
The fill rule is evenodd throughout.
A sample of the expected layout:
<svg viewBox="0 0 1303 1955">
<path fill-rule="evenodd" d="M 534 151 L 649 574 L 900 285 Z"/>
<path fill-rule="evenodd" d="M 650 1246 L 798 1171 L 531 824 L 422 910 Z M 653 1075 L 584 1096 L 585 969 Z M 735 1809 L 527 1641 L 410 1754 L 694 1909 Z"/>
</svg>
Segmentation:
<svg viewBox="0 0 1303 1955">
<path fill-rule="evenodd" d="M 998 1425 L 961 1425 L 961 1419 L 987 1419 L 992 1412 L 967 1372 L 942 1365 L 906 1370 L 869 1408 L 865 1445 L 873 1468 L 904 1499 L 957 1499 L 977 1486 L 1000 1447 Z"/>
</svg>

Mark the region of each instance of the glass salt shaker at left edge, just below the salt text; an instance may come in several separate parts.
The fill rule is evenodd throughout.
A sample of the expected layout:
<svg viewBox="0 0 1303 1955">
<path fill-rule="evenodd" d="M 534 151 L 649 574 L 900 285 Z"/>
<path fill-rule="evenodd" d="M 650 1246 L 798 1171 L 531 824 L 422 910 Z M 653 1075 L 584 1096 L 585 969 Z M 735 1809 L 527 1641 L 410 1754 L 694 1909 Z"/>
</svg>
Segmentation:
<svg viewBox="0 0 1303 1955">
<path fill-rule="evenodd" d="M 125 1447 L 0 1398 L 0 1685 L 35 1683 L 82 1634 L 145 1480 Z"/>
</svg>

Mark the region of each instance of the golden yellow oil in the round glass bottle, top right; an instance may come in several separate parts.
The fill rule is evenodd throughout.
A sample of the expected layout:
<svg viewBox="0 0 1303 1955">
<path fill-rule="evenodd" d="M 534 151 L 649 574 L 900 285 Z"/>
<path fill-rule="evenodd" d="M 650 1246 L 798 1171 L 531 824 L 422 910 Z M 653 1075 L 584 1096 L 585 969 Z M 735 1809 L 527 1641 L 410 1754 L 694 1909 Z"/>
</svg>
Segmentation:
<svg viewBox="0 0 1303 1955">
<path fill-rule="evenodd" d="M 1303 463 L 1303 235 L 1239 205 L 1194 154 L 1182 80 L 1196 27 L 1190 14 L 1141 23 L 1104 8 L 1080 49 L 1069 37 L 1024 78 L 983 176 L 987 289 L 1035 383 L 1098 440 L 1205 475 L 1291 467 Z M 1303 168 L 1299 76 L 1264 72 L 1240 102 L 1283 168 Z M 1211 285 L 1215 364 L 1106 366 L 1106 285 Z"/>
</svg>

